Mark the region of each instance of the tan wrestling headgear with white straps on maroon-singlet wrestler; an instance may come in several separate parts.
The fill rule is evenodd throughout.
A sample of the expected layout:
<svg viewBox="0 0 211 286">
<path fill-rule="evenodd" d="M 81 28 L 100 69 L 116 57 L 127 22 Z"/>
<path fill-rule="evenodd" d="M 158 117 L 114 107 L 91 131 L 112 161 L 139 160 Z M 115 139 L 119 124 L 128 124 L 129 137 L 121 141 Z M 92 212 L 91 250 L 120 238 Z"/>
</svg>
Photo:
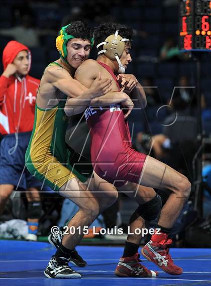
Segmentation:
<svg viewBox="0 0 211 286">
<path fill-rule="evenodd" d="M 118 33 L 119 31 L 117 30 L 114 35 L 110 35 L 104 40 L 104 42 L 101 42 L 96 46 L 97 49 L 100 46 L 103 46 L 103 49 L 99 51 L 97 55 L 104 53 L 104 55 L 111 60 L 117 60 L 119 65 L 118 73 L 125 73 L 125 67 L 121 63 L 120 57 L 122 56 L 125 49 L 124 42 L 128 42 L 130 40 L 122 38 L 120 35 L 118 35 Z"/>
</svg>

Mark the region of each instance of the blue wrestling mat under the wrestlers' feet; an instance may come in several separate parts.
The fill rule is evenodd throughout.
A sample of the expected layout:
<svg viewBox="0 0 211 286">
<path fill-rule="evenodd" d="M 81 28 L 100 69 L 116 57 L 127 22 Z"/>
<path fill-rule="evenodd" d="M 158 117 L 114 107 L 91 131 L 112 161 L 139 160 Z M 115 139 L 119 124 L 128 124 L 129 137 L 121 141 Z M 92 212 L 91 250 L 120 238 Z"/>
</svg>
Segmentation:
<svg viewBox="0 0 211 286">
<path fill-rule="evenodd" d="M 87 261 L 84 268 L 73 266 L 81 272 L 82 279 L 49 279 L 44 269 L 55 248 L 44 242 L 0 241 L 1 286 L 150 286 L 150 285 L 211 285 L 211 249 L 172 248 L 170 253 L 183 274 L 172 276 L 162 272 L 152 262 L 143 259 L 151 270 L 158 270 L 157 278 L 117 277 L 114 270 L 123 247 L 78 246 L 80 255 Z M 141 258 L 141 257 L 140 257 Z M 72 265 L 71 265 L 72 266 Z"/>
</svg>

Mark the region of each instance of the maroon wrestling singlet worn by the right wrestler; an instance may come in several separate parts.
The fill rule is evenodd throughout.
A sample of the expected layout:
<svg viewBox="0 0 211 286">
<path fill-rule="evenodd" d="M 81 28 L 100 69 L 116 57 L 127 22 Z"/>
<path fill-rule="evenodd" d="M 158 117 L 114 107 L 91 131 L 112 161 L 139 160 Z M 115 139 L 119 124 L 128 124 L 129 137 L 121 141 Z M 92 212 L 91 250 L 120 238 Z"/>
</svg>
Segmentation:
<svg viewBox="0 0 211 286">
<path fill-rule="evenodd" d="M 98 63 L 113 76 L 120 90 L 113 70 L 104 63 Z M 88 107 L 84 114 L 90 129 L 91 161 L 95 172 L 116 186 L 127 181 L 139 183 L 146 155 L 133 149 L 121 105 Z"/>
</svg>

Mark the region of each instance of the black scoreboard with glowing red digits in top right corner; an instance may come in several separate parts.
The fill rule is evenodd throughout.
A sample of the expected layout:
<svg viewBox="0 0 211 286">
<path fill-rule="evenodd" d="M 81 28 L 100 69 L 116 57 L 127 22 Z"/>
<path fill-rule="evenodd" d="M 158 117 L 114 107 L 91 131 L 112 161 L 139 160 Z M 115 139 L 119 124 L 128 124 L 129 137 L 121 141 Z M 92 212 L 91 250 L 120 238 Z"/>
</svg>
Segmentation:
<svg viewBox="0 0 211 286">
<path fill-rule="evenodd" d="M 211 1 L 180 0 L 179 49 L 211 51 Z"/>
</svg>

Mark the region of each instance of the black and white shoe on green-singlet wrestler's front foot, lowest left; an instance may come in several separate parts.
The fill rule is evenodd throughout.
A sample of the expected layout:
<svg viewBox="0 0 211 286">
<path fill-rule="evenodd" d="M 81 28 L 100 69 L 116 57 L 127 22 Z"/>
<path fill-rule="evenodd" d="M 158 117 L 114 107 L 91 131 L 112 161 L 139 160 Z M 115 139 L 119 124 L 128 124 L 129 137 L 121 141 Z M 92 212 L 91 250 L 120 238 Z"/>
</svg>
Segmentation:
<svg viewBox="0 0 211 286">
<path fill-rule="evenodd" d="M 81 274 L 72 270 L 68 265 L 68 259 L 53 255 L 49 261 L 44 274 L 48 278 L 81 278 Z"/>
</svg>

